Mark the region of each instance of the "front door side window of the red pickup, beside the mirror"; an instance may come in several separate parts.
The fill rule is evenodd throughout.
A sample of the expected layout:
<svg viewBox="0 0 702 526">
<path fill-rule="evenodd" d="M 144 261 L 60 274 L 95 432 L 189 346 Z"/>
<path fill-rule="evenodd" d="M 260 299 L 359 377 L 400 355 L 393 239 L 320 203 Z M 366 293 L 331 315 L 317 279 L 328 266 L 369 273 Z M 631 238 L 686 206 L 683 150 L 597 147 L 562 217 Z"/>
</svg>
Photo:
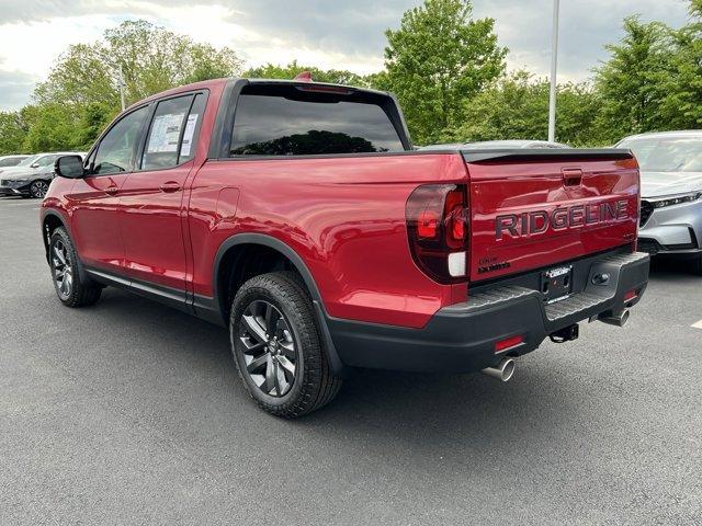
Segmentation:
<svg viewBox="0 0 702 526">
<path fill-rule="evenodd" d="M 132 158 L 148 106 L 139 107 L 122 117 L 100 141 L 92 163 L 93 174 L 110 174 L 132 170 Z"/>
</svg>

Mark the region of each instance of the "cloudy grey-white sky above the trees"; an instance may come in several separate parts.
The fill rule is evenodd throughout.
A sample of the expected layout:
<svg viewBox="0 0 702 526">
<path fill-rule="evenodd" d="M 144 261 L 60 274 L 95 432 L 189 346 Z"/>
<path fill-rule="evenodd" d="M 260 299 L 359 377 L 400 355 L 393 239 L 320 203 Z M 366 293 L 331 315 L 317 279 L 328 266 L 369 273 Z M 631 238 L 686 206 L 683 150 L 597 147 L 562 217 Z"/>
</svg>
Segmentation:
<svg viewBox="0 0 702 526">
<path fill-rule="evenodd" d="M 250 66 L 293 59 L 359 73 L 383 66 L 383 32 L 421 0 L 0 0 L 0 110 L 29 102 L 36 81 L 70 44 L 99 38 L 124 20 L 146 19 L 195 41 L 237 50 Z M 582 80 L 641 13 L 680 26 L 684 0 L 562 0 L 558 80 Z M 508 66 L 547 75 L 552 0 L 474 0 L 497 21 Z"/>
</svg>

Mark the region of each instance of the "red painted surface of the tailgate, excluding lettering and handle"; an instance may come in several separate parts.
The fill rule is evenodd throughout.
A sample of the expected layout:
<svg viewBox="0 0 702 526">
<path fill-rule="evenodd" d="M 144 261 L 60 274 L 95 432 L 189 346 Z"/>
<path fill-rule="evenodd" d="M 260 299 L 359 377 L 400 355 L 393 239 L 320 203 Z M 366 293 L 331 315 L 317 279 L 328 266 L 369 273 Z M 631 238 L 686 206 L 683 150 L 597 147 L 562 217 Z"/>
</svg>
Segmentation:
<svg viewBox="0 0 702 526">
<path fill-rule="evenodd" d="M 580 184 L 564 184 L 564 170 L 581 169 Z M 632 161 L 581 163 L 550 161 L 469 164 L 471 279 L 494 278 L 633 243 L 638 224 L 638 170 Z M 625 219 L 512 237 L 496 236 L 496 218 L 574 205 L 625 201 Z M 509 262 L 507 268 L 480 274 L 486 262 Z"/>
</svg>

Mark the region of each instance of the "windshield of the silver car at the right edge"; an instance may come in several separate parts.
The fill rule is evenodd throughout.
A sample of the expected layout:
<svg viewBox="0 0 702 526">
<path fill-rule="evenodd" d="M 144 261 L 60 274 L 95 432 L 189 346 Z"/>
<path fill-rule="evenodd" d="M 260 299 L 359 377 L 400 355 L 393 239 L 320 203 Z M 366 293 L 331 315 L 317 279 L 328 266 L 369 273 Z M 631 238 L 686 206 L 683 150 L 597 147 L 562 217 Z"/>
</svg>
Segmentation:
<svg viewBox="0 0 702 526">
<path fill-rule="evenodd" d="M 630 148 L 646 172 L 702 172 L 702 137 L 625 139 L 619 148 Z"/>
</svg>

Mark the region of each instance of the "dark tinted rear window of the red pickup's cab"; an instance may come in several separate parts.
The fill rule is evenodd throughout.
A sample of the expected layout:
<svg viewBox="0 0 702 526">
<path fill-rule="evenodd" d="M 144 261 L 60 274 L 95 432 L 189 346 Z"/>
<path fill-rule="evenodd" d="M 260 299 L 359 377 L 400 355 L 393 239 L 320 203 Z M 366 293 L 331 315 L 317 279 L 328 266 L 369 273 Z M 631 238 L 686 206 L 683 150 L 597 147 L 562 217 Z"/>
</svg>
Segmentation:
<svg viewBox="0 0 702 526">
<path fill-rule="evenodd" d="M 230 155 L 303 156 L 403 151 L 378 104 L 341 96 L 242 94 Z"/>
</svg>

